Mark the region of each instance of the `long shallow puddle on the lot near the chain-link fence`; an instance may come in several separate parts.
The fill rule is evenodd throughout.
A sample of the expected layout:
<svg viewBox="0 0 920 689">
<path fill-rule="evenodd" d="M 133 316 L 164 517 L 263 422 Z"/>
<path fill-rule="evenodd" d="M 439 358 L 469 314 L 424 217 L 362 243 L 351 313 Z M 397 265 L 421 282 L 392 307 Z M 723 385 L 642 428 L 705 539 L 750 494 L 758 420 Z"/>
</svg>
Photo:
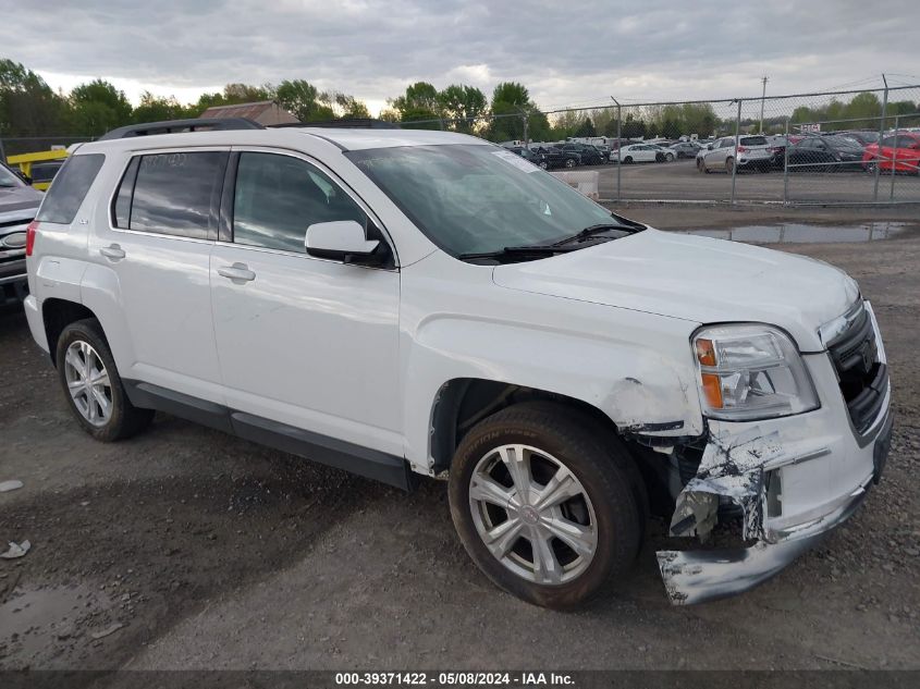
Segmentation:
<svg viewBox="0 0 920 689">
<path fill-rule="evenodd" d="M 823 244 L 826 242 L 857 244 L 894 239 L 908 234 L 913 224 L 916 223 L 866 222 L 858 225 L 808 225 L 786 222 L 775 225 L 746 225 L 731 230 L 679 230 L 678 232 L 747 244 Z"/>
</svg>

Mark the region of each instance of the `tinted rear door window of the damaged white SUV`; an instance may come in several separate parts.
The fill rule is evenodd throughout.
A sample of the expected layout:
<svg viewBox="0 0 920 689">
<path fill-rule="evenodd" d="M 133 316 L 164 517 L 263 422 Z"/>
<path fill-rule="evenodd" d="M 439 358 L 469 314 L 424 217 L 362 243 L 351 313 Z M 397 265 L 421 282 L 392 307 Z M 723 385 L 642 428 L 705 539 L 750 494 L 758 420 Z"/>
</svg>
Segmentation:
<svg viewBox="0 0 920 689">
<path fill-rule="evenodd" d="M 142 156 L 128 229 L 207 238 L 209 229 L 217 230 L 211 209 L 220 200 L 225 167 L 226 153 L 220 151 Z M 115 214 L 124 222 L 121 188 L 118 200 Z"/>
</svg>

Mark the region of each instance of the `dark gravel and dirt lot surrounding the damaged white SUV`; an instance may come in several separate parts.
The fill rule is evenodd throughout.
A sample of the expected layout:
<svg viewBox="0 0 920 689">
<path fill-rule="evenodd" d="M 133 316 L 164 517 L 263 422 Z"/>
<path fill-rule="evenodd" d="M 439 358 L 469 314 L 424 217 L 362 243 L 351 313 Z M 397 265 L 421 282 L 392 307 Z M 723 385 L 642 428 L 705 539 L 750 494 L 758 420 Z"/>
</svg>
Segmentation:
<svg viewBox="0 0 920 689">
<path fill-rule="evenodd" d="M 626 212 L 662 227 L 777 219 Z M 32 542 L 0 561 L 0 667 L 920 667 L 920 226 L 780 248 L 841 266 L 872 299 L 894 448 L 885 480 L 820 549 L 745 595 L 685 608 L 665 600 L 658 521 L 627 580 L 561 614 L 479 574 L 443 483 L 406 495 L 167 416 L 95 443 L 22 315 L 0 315 L 0 481 L 25 484 L 0 493 L 0 541 Z"/>
</svg>

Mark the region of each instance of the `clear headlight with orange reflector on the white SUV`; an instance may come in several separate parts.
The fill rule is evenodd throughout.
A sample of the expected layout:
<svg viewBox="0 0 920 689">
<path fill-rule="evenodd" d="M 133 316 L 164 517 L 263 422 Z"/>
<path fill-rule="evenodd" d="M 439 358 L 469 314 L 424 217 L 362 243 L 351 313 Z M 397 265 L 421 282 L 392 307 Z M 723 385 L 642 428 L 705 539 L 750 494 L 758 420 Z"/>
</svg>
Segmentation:
<svg viewBox="0 0 920 689">
<path fill-rule="evenodd" d="M 694 335 L 706 415 L 750 421 L 817 409 L 818 395 L 788 335 L 760 324 L 713 325 Z"/>
</svg>

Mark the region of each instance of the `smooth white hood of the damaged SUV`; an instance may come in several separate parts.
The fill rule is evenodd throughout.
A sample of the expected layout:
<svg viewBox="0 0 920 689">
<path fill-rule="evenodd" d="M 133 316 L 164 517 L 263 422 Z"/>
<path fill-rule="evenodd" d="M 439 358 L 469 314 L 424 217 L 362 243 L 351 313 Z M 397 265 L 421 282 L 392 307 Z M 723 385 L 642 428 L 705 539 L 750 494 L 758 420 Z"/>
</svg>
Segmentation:
<svg viewBox="0 0 920 689">
<path fill-rule="evenodd" d="M 696 323 L 755 321 L 823 349 L 818 328 L 858 298 L 846 273 L 811 258 L 736 242 L 646 230 L 494 269 L 510 290 L 659 313 Z"/>
</svg>

